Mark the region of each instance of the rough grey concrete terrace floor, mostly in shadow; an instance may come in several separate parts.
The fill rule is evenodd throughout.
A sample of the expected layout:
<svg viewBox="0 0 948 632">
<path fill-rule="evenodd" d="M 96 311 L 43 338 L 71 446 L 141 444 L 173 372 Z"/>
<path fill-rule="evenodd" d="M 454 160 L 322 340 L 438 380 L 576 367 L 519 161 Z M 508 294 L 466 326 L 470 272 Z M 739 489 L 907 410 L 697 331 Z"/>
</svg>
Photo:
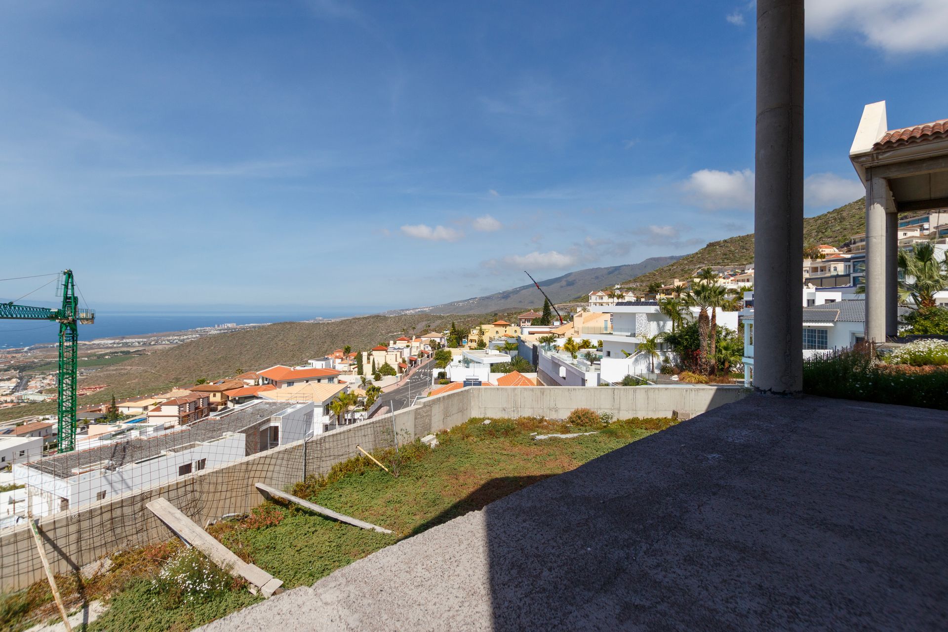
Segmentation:
<svg viewBox="0 0 948 632">
<path fill-rule="evenodd" d="M 755 395 L 203 629 L 945 630 L 946 565 L 948 414 Z"/>
</svg>

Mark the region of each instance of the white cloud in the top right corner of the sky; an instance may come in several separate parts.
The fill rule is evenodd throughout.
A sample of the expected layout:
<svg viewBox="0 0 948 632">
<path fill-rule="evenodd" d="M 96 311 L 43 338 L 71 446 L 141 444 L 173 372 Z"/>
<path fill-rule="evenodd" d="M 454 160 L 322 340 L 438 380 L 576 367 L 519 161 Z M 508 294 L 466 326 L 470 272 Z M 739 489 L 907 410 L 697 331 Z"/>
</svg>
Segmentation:
<svg viewBox="0 0 948 632">
<path fill-rule="evenodd" d="M 945 0 L 807 0 L 806 16 L 807 34 L 817 38 L 855 32 L 887 53 L 948 48 Z"/>
</svg>

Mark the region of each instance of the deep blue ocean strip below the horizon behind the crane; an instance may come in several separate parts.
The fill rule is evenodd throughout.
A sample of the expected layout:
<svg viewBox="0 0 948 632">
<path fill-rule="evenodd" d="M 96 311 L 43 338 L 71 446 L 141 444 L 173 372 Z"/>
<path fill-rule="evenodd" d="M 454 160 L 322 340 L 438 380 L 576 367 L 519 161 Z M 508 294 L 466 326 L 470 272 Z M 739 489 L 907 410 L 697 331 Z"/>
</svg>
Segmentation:
<svg viewBox="0 0 948 632">
<path fill-rule="evenodd" d="M 163 334 L 165 332 L 183 332 L 198 327 L 213 327 L 232 322 L 238 325 L 252 323 L 284 322 L 287 320 L 311 320 L 313 318 L 338 318 L 356 316 L 355 314 L 335 313 L 335 310 L 322 310 L 321 313 L 144 313 L 144 312 L 107 312 L 96 311 L 96 322 L 79 326 L 80 340 L 110 338 L 117 335 Z M 0 349 L 28 347 L 43 343 L 55 343 L 59 334 L 59 325 L 42 320 L 0 320 Z"/>
</svg>

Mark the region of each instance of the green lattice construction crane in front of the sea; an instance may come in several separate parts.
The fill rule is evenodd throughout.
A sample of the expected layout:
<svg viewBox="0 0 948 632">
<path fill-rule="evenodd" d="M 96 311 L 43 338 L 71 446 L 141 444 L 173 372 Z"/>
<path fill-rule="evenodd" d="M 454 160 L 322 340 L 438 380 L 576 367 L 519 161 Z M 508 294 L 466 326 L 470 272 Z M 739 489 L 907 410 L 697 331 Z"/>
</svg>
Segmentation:
<svg viewBox="0 0 948 632">
<path fill-rule="evenodd" d="M 20 320 L 55 320 L 60 324 L 60 361 L 57 380 L 59 399 L 59 451 L 72 452 L 76 449 L 76 382 L 79 360 L 79 324 L 91 325 L 95 322 L 93 310 L 80 309 L 76 298 L 76 280 L 72 270 L 63 272 L 63 306 L 58 310 L 46 307 L 14 305 L 12 302 L 0 303 L 0 318 Z"/>
</svg>

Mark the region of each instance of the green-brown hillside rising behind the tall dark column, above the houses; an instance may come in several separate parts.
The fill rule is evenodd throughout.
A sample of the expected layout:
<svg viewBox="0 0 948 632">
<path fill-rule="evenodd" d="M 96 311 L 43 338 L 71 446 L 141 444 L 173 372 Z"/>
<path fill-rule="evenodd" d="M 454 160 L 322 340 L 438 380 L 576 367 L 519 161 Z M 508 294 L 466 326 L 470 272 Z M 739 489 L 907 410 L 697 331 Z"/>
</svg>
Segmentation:
<svg viewBox="0 0 948 632">
<path fill-rule="evenodd" d="M 866 203 L 865 199 L 859 199 L 822 215 L 804 218 L 803 243 L 805 246 L 840 246 L 853 235 L 865 230 Z M 802 263 L 803 253 L 800 253 L 800 256 Z M 697 252 L 631 278 L 626 283 L 631 286 L 644 286 L 656 280 L 669 283 L 673 279 L 688 279 L 695 270 L 705 265 L 741 265 L 751 262 L 754 262 L 754 233 L 711 242 Z"/>
</svg>

